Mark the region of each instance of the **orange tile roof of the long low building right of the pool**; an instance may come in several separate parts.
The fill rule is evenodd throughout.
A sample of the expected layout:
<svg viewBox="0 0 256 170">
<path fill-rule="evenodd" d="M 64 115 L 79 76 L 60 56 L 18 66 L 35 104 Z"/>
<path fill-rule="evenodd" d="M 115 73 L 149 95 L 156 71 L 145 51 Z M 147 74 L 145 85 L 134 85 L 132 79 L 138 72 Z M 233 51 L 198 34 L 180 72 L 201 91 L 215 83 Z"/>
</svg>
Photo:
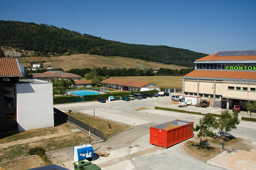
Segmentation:
<svg viewBox="0 0 256 170">
<path fill-rule="evenodd" d="M 116 84 L 116 85 L 129 86 L 129 87 L 143 87 L 143 86 L 146 86 L 147 84 L 149 84 L 151 82 L 141 82 L 141 81 L 132 81 L 132 80 L 108 78 L 104 81 L 101 81 L 101 83 Z M 154 84 L 154 83 L 152 83 L 152 84 Z"/>
</svg>

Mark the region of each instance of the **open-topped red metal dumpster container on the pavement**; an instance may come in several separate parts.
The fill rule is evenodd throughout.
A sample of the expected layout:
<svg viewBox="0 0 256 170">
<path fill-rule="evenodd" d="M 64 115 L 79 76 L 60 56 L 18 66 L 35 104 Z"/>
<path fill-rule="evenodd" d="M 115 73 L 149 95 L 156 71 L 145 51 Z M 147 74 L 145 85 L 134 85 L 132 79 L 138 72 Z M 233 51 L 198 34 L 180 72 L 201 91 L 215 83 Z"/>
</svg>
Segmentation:
<svg viewBox="0 0 256 170">
<path fill-rule="evenodd" d="M 179 127 L 172 128 L 170 130 L 164 130 L 169 124 L 181 125 Z M 163 146 L 168 148 L 179 142 L 187 140 L 193 137 L 193 127 L 194 122 L 184 121 L 184 120 L 173 120 L 170 122 L 162 123 L 150 127 L 150 144 L 156 146 Z"/>
</svg>

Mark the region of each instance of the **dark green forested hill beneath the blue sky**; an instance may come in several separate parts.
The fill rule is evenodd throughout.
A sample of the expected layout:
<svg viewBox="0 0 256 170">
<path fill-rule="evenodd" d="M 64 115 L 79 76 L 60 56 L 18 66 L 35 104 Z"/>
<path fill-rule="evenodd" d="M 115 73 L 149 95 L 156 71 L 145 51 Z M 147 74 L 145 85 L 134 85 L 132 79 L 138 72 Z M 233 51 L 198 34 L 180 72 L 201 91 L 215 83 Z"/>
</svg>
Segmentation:
<svg viewBox="0 0 256 170">
<path fill-rule="evenodd" d="M 191 67 L 196 59 L 208 55 L 163 45 L 120 43 L 52 25 L 19 21 L 1 20 L 0 38 L 1 46 L 34 51 L 37 56 L 89 53 Z"/>
</svg>

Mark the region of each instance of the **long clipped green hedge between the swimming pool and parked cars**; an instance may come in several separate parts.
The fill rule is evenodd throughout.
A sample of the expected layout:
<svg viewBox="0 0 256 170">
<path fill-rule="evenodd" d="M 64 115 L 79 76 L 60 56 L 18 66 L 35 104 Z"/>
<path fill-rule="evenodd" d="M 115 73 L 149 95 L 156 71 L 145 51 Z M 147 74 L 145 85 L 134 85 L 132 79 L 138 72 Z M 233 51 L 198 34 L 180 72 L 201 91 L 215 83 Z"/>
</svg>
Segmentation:
<svg viewBox="0 0 256 170">
<path fill-rule="evenodd" d="M 131 92 L 131 94 L 134 93 L 157 93 L 157 90 L 150 90 L 150 91 L 141 91 L 141 92 Z M 94 95 L 85 95 L 84 98 L 87 99 L 87 101 L 95 101 L 99 98 L 105 98 L 108 99 L 110 96 L 121 96 L 125 97 L 127 95 L 130 95 L 130 92 L 119 92 L 119 93 L 105 93 L 105 94 L 94 94 Z M 70 103 L 71 98 L 78 98 L 79 96 L 56 96 L 53 98 L 53 104 L 61 104 L 61 103 Z"/>
</svg>

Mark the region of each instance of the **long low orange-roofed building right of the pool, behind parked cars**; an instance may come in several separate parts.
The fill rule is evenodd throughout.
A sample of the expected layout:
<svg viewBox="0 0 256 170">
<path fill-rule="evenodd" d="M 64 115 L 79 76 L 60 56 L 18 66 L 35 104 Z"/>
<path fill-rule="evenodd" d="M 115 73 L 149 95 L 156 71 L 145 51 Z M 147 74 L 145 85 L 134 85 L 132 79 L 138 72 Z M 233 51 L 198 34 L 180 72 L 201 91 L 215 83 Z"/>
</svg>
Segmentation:
<svg viewBox="0 0 256 170">
<path fill-rule="evenodd" d="M 149 90 L 158 90 L 160 87 L 155 87 L 156 84 L 151 82 L 142 82 L 142 81 L 132 81 L 132 80 L 123 80 L 123 79 L 114 79 L 108 78 L 100 83 L 104 84 L 104 87 L 120 89 L 124 91 L 149 91 Z"/>
</svg>

